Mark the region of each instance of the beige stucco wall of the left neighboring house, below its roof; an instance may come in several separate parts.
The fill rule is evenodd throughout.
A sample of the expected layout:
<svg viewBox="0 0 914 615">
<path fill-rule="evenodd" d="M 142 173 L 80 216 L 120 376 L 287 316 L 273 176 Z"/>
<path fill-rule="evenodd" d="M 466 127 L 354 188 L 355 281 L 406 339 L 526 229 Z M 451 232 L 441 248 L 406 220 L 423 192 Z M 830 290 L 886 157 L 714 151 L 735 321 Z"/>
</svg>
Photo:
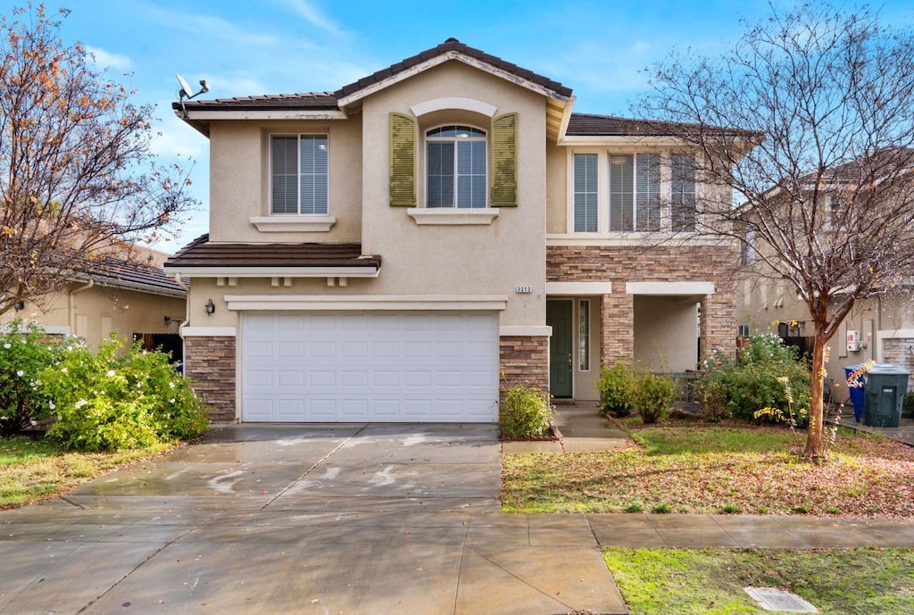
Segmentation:
<svg viewBox="0 0 914 615">
<path fill-rule="evenodd" d="M 94 349 L 111 332 L 117 332 L 125 344 L 130 344 L 134 333 L 176 334 L 178 323 L 185 317 L 186 302 L 182 298 L 101 286 L 80 291 L 83 287 L 84 284 L 70 285 L 69 292 L 49 296 L 40 306 L 27 302 L 20 312 L 5 313 L 0 322 L 35 320 L 52 327 L 52 332 L 85 338 Z M 165 316 L 180 320 L 166 324 Z"/>
</svg>

